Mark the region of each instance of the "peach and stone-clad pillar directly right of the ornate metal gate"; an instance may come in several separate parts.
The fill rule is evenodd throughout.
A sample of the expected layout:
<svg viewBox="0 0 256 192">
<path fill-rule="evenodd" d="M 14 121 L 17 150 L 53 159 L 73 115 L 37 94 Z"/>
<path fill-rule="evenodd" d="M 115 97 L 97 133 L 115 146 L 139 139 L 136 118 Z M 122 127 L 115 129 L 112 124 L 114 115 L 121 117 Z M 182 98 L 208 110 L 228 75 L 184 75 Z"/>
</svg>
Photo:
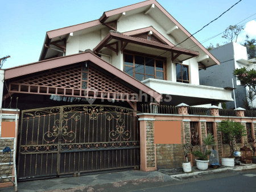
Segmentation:
<svg viewBox="0 0 256 192">
<path fill-rule="evenodd" d="M 141 170 L 156 170 L 156 152 L 154 144 L 154 118 L 139 118 L 141 144 Z"/>
</svg>

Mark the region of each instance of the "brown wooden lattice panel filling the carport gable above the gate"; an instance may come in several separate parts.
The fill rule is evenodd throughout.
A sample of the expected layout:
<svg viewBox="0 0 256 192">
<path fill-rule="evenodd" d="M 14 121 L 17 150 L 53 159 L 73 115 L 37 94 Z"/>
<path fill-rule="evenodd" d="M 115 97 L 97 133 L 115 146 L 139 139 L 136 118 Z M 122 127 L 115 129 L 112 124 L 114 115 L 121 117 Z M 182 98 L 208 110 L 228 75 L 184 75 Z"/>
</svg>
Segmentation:
<svg viewBox="0 0 256 192">
<path fill-rule="evenodd" d="M 93 68 L 87 62 L 10 81 L 9 91 L 10 93 L 138 101 L 138 98 L 133 97 L 133 90 Z"/>
</svg>

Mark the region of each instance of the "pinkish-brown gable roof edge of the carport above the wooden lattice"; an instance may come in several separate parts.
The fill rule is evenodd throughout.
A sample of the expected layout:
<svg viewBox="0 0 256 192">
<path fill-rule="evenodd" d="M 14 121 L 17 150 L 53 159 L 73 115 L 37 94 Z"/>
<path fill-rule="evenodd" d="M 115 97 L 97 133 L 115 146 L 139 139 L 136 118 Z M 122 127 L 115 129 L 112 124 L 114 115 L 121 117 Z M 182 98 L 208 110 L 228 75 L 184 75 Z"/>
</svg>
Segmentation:
<svg viewBox="0 0 256 192">
<path fill-rule="evenodd" d="M 24 76 L 27 74 L 32 74 L 36 72 L 41 72 L 43 70 L 49 70 L 58 68 L 60 66 L 67 66 L 75 64 L 82 61 L 91 61 L 96 64 L 98 67 L 108 71 L 109 73 L 114 74 L 116 77 L 127 82 L 131 86 L 137 88 L 138 90 L 147 93 L 153 97 L 157 102 L 160 102 L 162 95 L 150 87 L 144 85 L 142 82 L 131 77 L 129 74 L 123 72 L 122 70 L 116 68 L 115 66 L 109 64 L 108 62 L 102 60 L 100 57 L 94 55 L 91 50 L 86 50 L 82 53 L 77 53 L 75 55 L 68 55 L 64 57 L 57 57 L 54 59 L 48 59 L 43 61 L 34 62 L 31 64 L 15 66 L 13 68 L 5 69 L 5 80 L 10 78 L 15 78 L 19 76 Z"/>
</svg>

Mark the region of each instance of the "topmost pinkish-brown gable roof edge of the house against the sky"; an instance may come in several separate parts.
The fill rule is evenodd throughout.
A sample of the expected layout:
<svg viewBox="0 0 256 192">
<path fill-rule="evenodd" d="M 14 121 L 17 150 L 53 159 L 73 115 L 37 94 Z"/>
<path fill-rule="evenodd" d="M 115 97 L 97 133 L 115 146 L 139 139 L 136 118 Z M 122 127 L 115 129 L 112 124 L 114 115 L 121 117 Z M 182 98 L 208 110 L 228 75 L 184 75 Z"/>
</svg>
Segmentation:
<svg viewBox="0 0 256 192">
<path fill-rule="evenodd" d="M 187 30 L 185 30 L 185 28 L 183 26 L 181 26 L 181 24 L 179 22 L 177 22 L 177 20 L 174 19 L 174 17 L 172 17 L 171 14 L 169 12 L 167 12 L 156 0 L 148 0 L 148 1 L 143 1 L 143 2 L 139 2 L 139 3 L 135 3 L 133 5 L 121 7 L 121 8 L 118 8 L 118 9 L 114 9 L 114 10 L 110 10 L 110 11 L 105 11 L 100 19 L 94 20 L 92 22 L 77 24 L 75 26 L 64 27 L 64 28 L 60 28 L 58 30 L 48 31 L 47 32 L 46 40 L 44 41 L 44 44 L 47 43 L 48 39 L 51 39 L 53 37 L 57 37 L 57 36 L 65 34 L 65 33 L 69 34 L 70 32 L 75 32 L 75 31 L 83 30 L 85 28 L 97 26 L 97 25 L 100 25 L 101 23 L 104 23 L 106 21 L 109 22 L 110 20 L 108 20 L 108 19 L 110 19 L 112 16 L 116 16 L 116 15 L 122 14 L 122 12 L 139 9 L 139 8 L 145 7 L 145 6 L 148 7 L 149 5 L 152 5 L 152 4 L 154 4 L 160 11 L 162 11 L 163 14 L 166 15 L 167 18 L 170 19 L 171 22 L 173 22 L 177 27 L 179 27 L 179 29 L 182 32 L 184 32 L 184 34 L 186 36 L 191 36 L 191 34 Z M 195 39 L 195 37 L 191 36 L 189 39 L 192 40 L 193 43 L 195 43 L 203 52 L 205 52 L 217 65 L 220 65 L 220 61 L 218 61 L 199 41 L 197 41 Z M 42 50 L 42 53 L 40 55 L 40 59 L 39 60 L 42 59 L 42 56 L 43 56 L 43 53 L 44 53 L 44 49 L 46 49 L 46 47 L 43 46 L 43 50 Z M 211 65 L 213 65 L 213 64 L 211 64 Z"/>
</svg>

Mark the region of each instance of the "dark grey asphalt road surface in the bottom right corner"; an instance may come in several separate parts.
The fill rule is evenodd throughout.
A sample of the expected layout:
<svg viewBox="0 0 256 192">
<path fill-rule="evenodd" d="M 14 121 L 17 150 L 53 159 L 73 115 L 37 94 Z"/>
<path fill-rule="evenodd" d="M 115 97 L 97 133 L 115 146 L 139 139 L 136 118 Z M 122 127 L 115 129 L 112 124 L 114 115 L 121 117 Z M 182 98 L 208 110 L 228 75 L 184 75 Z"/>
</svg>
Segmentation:
<svg viewBox="0 0 256 192">
<path fill-rule="evenodd" d="M 170 185 L 163 183 L 163 185 L 165 186 L 145 186 L 144 189 L 132 191 L 256 191 L 256 170 L 201 175 L 197 177 L 181 179 L 181 181 L 177 182 L 176 185 L 171 183 Z"/>
</svg>

